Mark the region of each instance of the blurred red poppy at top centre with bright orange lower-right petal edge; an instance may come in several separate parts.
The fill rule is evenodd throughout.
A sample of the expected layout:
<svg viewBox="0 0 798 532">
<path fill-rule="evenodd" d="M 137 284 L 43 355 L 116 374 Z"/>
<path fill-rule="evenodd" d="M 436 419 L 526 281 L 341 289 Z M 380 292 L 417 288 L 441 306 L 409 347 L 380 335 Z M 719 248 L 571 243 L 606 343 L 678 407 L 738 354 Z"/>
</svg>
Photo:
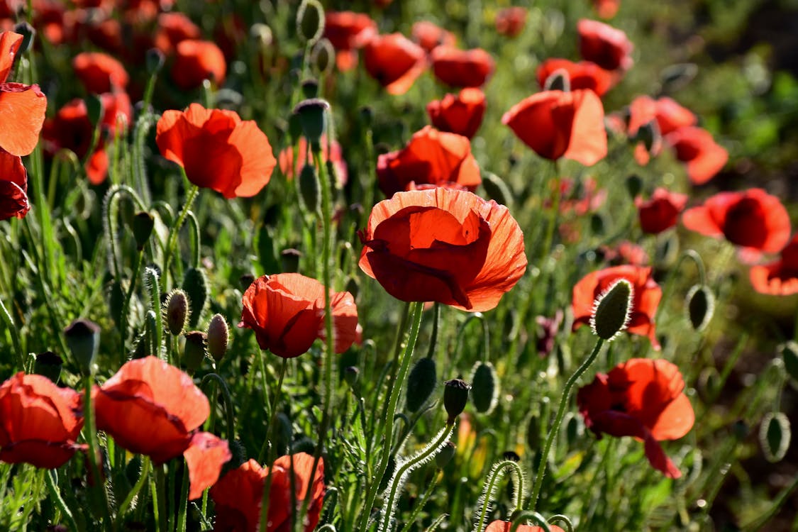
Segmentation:
<svg viewBox="0 0 798 532">
<path fill-rule="evenodd" d="M 389 94 L 404 94 L 424 72 L 421 46 L 401 33 L 375 35 L 363 48 L 365 69 Z"/>
</svg>

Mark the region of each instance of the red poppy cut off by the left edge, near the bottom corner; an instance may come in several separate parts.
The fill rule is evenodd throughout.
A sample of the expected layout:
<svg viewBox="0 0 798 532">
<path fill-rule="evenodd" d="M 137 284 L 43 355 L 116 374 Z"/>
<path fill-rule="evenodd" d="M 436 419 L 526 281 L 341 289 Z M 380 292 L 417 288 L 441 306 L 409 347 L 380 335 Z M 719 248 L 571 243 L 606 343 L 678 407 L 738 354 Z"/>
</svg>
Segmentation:
<svg viewBox="0 0 798 532">
<path fill-rule="evenodd" d="M 41 375 L 18 372 L 0 385 L 0 461 L 53 469 L 80 446 L 80 394 Z"/>
</svg>

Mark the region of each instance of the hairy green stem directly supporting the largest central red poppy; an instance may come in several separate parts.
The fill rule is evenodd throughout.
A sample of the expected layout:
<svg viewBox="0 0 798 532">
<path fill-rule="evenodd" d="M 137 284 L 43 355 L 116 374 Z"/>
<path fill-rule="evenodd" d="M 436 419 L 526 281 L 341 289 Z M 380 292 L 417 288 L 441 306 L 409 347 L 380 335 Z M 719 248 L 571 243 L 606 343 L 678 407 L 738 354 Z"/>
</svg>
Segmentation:
<svg viewBox="0 0 798 532">
<path fill-rule="evenodd" d="M 421 327 L 421 313 L 424 312 L 424 303 L 413 303 L 413 325 L 410 328 L 410 336 L 405 347 L 405 352 L 401 356 L 401 368 L 397 376 L 396 382 L 393 384 L 393 389 L 388 400 L 388 412 L 384 417 L 385 431 L 382 439 L 382 454 L 380 457 L 380 465 L 377 467 L 377 475 L 374 475 L 372 483 L 369 485 L 369 490 L 365 497 L 365 505 L 360 516 L 360 532 L 365 532 L 369 527 L 369 516 L 374 507 L 374 499 L 377 498 L 377 491 L 379 491 L 382 477 L 385 475 L 385 470 L 388 468 L 388 459 L 391 452 L 391 442 L 393 441 L 393 416 L 397 411 L 397 404 L 399 396 L 401 395 L 401 388 L 405 384 L 407 373 L 410 368 L 410 361 L 413 359 L 413 351 L 416 349 L 416 341 L 418 339 L 418 329 Z"/>
</svg>

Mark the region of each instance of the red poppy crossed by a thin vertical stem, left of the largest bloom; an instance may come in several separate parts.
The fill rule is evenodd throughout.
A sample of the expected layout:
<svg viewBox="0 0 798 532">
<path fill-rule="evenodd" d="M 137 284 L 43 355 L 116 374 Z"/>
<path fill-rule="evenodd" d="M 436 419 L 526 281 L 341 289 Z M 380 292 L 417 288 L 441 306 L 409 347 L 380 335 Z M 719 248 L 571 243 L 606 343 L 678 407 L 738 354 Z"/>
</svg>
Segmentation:
<svg viewBox="0 0 798 532">
<path fill-rule="evenodd" d="M 302 274 L 263 275 L 243 295 L 239 327 L 255 331 L 258 345 L 278 357 L 306 353 L 316 338 L 325 338 L 324 285 Z M 330 292 L 335 353 L 354 342 L 358 307 L 349 292 Z"/>
</svg>

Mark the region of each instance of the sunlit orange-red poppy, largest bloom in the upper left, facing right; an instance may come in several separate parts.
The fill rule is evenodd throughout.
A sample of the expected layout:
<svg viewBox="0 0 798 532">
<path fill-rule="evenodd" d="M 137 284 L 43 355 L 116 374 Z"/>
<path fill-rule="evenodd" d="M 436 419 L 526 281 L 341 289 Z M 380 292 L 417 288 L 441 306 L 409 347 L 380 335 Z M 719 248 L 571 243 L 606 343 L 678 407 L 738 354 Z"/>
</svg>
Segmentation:
<svg viewBox="0 0 798 532">
<path fill-rule="evenodd" d="M 269 139 L 254 120 L 199 104 L 183 112 L 164 112 L 156 127 L 156 144 L 162 156 L 184 167 L 189 181 L 225 198 L 257 194 L 277 164 Z"/>
</svg>

